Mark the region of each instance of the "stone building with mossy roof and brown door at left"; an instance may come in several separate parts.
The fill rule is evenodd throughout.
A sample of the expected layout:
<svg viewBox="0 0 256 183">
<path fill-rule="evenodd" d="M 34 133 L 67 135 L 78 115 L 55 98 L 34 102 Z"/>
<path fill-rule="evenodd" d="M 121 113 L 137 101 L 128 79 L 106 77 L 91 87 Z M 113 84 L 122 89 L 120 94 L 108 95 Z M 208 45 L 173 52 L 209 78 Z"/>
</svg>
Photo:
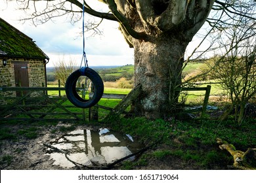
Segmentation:
<svg viewBox="0 0 256 183">
<path fill-rule="evenodd" d="M 33 39 L 0 18 L 0 87 L 46 86 L 48 61 Z"/>
</svg>

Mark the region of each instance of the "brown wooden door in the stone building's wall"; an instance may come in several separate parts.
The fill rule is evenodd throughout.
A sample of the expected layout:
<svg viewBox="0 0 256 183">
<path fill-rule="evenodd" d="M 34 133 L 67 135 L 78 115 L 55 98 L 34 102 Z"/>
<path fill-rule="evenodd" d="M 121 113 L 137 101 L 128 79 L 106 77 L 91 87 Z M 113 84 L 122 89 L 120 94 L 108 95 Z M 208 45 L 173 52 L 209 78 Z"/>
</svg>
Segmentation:
<svg viewBox="0 0 256 183">
<path fill-rule="evenodd" d="M 28 63 L 14 63 L 14 75 L 16 87 L 29 87 L 28 82 Z M 26 92 L 16 92 L 16 96 L 25 95 Z"/>
</svg>

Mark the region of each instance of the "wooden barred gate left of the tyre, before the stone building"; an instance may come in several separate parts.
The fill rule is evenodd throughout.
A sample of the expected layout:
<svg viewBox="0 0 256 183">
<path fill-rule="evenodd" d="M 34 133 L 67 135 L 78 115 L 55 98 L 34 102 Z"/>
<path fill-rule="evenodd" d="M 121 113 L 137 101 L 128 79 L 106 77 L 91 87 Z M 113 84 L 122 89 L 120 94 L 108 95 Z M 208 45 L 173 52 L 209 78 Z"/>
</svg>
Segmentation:
<svg viewBox="0 0 256 183">
<path fill-rule="evenodd" d="M 7 120 L 57 120 L 85 121 L 85 109 L 72 105 L 67 97 L 49 96 L 46 91 L 62 91 L 65 88 L 2 87 L 0 121 Z M 1 92 L 27 91 L 19 97 L 3 97 Z"/>
</svg>

